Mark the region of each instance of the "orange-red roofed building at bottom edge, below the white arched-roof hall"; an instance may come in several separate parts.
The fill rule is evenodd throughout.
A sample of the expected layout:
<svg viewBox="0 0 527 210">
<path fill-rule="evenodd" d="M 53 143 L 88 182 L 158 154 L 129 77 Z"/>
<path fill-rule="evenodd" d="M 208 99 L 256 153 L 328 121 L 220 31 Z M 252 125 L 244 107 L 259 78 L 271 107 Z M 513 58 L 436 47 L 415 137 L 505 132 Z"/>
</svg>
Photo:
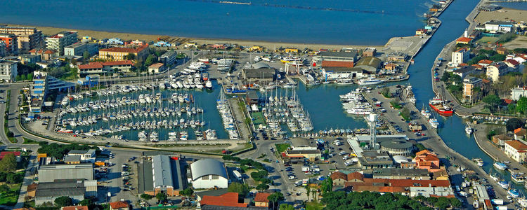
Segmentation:
<svg viewBox="0 0 527 210">
<path fill-rule="evenodd" d="M 204 195 L 200 201 L 201 209 L 230 209 L 224 207 L 247 208 L 249 204 L 240 202 L 238 193 L 225 193 L 219 196 Z M 214 208 L 216 207 L 216 208 Z"/>
</svg>

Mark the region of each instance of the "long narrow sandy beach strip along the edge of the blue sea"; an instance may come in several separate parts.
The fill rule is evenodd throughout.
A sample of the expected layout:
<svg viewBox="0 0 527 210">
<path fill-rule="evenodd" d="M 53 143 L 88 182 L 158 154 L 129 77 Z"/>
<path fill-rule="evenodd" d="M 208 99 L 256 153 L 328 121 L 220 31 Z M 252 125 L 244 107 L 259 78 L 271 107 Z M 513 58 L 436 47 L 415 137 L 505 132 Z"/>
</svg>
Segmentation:
<svg viewBox="0 0 527 210">
<path fill-rule="evenodd" d="M 120 32 L 110 32 L 110 31 L 94 31 L 94 30 L 82 30 L 82 29 L 67 29 L 67 28 L 58 28 L 58 27 L 40 27 L 40 26 L 29 26 L 29 25 L 10 25 L 8 26 L 18 26 L 18 27 L 36 27 L 41 30 L 45 35 L 53 35 L 60 31 L 77 31 L 78 36 L 91 36 L 93 38 L 121 38 L 122 40 L 144 40 L 144 41 L 157 41 L 158 39 L 163 41 L 169 41 L 172 43 L 187 43 L 187 42 L 196 42 L 198 44 L 214 44 L 214 43 L 232 43 L 243 46 L 252 46 L 252 45 L 261 45 L 264 48 L 276 49 L 276 48 L 309 48 L 311 50 L 319 50 L 321 48 L 340 50 L 342 48 L 354 48 L 354 49 L 364 49 L 364 48 L 382 48 L 383 46 L 378 45 L 331 45 L 323 43 L 274 43 L 268 41 L 249 41 L 249 40 L 235 40 L 235 39 L 207 39 L 207 38 L 188 38 L 180 36 L 167 36 L 167 35 L 152 35 L 152 34 L 129 34 L 129 33 L 120 33 Z"/>
</svg>

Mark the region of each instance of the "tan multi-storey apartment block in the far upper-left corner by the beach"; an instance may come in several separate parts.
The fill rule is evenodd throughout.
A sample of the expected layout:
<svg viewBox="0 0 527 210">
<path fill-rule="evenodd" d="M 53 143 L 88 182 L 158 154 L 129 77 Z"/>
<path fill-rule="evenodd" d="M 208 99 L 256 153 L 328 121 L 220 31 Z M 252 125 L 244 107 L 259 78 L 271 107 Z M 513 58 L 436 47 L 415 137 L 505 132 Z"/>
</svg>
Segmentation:
<svg viewBox="0 0 527 210">
<path fill-rule="evenodd" d="M 0 27 L 0 34 L 15 34 L 19 52 L 40 48 L 44 43 L 42 31 L 32 27 Z"/>
</svg>

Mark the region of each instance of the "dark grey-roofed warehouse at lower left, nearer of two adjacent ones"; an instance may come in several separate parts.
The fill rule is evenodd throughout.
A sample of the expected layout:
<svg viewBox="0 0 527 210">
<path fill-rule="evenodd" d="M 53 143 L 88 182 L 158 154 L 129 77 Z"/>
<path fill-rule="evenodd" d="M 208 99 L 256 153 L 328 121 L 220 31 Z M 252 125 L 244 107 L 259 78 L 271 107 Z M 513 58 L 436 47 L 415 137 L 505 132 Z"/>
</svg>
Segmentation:
<svg viewBox="0 0 527 210">
<path fill-rule="evenodd" d="M 28 194 L 31 194 L 28 190 Z M 39 181 L 34 189 L 35 205 L 55 202 L 61 196 L 70 197 L 74 203 L 86 197 L 97 197 L 97 181 L 63 180 L 53 182 Z"/>
</svg>

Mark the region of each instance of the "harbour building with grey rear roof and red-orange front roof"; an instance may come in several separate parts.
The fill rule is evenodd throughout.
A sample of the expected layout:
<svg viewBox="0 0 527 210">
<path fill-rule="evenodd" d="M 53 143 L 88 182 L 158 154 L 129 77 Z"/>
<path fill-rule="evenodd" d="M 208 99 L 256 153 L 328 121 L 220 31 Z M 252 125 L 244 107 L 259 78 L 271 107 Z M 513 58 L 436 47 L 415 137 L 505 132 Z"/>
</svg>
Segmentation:
<svg viewBox="0 0 527 210">
<path fill-rule="evenodd" d="M 357 59 L 357 52 L 320 52 L 318 53 L 318 60 L 322 62 L 322 66 L 331 67 L 348 67 L 353 68 Z"/>
</svg>

